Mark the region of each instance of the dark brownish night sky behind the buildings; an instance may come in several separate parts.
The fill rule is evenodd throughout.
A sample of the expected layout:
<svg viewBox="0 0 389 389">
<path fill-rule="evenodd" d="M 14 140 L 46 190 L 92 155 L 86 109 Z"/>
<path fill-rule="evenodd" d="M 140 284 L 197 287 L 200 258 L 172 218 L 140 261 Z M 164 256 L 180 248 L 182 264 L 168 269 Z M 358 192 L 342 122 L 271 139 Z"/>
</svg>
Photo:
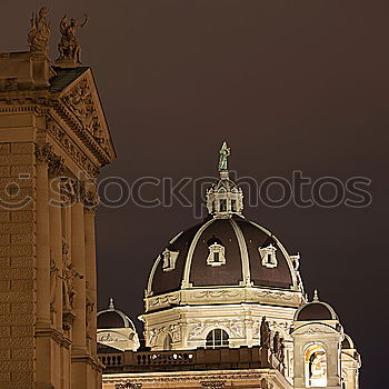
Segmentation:
<svg viewBox="0 0 389 389">
<path fill-rule="evenodd" d="M 24 50 L 41 1 L 1 2 L 1 51 Z M 246 207 L 246 216 L 301 252 L 362 356 L 361 389 L 388 386 L 388 0 L 51 1 L 51 58 L 63 13 L 92 66 L 118 159 L 102 172 L 138 178 L 215 176 L 230 166 L 257 180 L 293 170 L 372 180 L 365 209 Z M 114 192 L 114 190 L 111 192 Z M 149 196 L 156 193 L 149 191 Z M 100 308 L 113 296 L 134 321 L 149 269 L 192 209 L 129 201 L 98 212 Z"/>
</svg>

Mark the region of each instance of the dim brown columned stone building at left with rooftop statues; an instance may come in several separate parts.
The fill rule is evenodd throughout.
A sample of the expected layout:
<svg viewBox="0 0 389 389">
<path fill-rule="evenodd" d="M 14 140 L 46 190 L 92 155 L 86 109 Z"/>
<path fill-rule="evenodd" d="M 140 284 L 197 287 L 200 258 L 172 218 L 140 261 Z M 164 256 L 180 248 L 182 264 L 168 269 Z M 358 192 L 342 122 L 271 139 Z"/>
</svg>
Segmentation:
<svg viewBox="0 0 389 389">
<path fill-rule="evenodd" d="M 96 184 L 114 150 L 72 22 L 50 62 L 48 12 L 31 21 L 29 51 L 0 53 L 2 389 L 101 387 Z"/>
</svg>

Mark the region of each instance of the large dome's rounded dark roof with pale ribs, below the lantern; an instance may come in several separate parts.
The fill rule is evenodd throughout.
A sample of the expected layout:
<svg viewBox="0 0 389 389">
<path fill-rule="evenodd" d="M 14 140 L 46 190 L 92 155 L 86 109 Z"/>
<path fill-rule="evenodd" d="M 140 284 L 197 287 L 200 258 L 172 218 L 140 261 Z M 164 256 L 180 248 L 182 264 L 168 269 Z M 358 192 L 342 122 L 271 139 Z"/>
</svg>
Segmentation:
<svg viewBox="0 0 389 389">
<path fill-rule="evenodd" d="M 222 250 L 223 261 L 219 263 L 209 261 L 213 246 Z M 263 265 L 267 250 L 273 253 L 273 262 Z M 173 266 L 167 263 L 167 255 L 176 256 Z M 232 215 L 209 218 L 189 228 L 158 256 L 148 292 L 161 295 L 188 286 L 260 286 L 296 290 L 297 277 L 287 251 L 271 232 Z"/>
</svg>

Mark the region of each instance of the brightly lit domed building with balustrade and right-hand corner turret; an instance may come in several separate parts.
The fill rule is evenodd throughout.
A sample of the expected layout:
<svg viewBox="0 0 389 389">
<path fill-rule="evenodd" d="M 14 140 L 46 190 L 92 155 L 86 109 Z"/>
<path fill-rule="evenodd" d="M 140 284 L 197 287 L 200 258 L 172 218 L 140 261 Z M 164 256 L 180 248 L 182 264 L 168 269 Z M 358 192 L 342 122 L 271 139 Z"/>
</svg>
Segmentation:
<svg viewBox="0 0 389 389">
<path fill-rule="evenodd" d="M 153 261 L 140 317 L 144 348 L 109 366 L 104 386 L 358 389 L 352 340 L 317 293 L 307 301 L 300 256 L 243 216 L 229 153 L 223 143 L 208 216 Z"/>
</svg>

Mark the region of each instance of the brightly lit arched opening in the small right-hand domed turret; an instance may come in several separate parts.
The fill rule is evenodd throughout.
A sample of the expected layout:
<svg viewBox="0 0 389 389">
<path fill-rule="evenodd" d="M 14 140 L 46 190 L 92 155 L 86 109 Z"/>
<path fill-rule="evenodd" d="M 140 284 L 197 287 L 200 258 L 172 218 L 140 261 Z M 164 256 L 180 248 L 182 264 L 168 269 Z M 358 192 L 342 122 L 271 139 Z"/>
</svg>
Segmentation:
<svg viewBox="0 0 389 389">
<path fill-rule="evenodd" d="M 308 348 L 305 356 L 306 387 L 327 387 L 327 356 L 326 350 L 313 345 Z"/>
</svg>

